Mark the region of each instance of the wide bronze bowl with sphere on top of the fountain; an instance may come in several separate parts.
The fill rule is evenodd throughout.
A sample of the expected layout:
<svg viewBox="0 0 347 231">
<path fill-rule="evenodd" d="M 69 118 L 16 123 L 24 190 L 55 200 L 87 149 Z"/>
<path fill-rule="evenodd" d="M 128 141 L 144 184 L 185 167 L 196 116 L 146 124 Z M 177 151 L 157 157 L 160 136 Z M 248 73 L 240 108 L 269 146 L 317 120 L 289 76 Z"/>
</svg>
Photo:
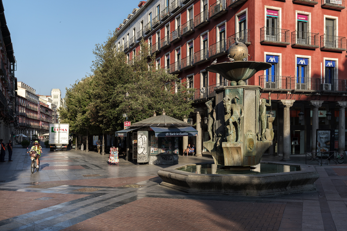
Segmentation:
<svg viewBox="0 0 347 231">
<path fill-rule="evenodd" d="M 228 49 L 229 60 L 235 61 L 215 63 L 206 67 L 206 70 L 219 73 L 229 81 L 236 81 L 238 85 L 245 85 L 244 80 L 251 78 L 258 71 L 271 67 L 271 64 L 266 62 L 243 61 L 246 60 L 247 55 L 247 46 L 241 42 L 236 42 Z"/>
</svg>

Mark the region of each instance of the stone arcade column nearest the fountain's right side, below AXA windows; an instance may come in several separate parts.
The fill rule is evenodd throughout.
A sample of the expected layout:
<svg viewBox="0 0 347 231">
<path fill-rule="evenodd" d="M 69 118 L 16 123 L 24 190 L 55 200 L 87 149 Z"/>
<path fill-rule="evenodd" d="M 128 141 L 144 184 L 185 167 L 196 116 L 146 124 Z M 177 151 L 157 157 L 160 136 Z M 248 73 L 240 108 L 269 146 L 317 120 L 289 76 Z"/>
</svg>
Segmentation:
<svg viewBox="0 0 347 231">
<path fill-rule="evenodd" d="M 290 160 L 290 113 L 289 108 L 293 106 L 295 99 L 281 99 L 283 105 L 283 158 L 282 161 Z"/>
</svg>

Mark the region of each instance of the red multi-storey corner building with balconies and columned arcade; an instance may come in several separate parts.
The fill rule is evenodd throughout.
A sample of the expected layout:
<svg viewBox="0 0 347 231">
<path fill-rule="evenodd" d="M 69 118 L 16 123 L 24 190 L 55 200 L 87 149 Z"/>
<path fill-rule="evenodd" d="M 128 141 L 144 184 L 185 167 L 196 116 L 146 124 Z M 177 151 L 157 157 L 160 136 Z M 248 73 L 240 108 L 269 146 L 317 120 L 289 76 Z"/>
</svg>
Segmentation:
<svg viewBox="0 0 347 231">
<path fill-rule="evenodd" d="M 332 130 L 331 143 L 342 152 L 347 107 L 345 7 L 344 0 L 141 1 L 117 28 L 116 43 L 131 65 L 144 39 L 160 68 L 196 89 L 196 113 L 189 120 L 203 132 L 188 142 L 209 140 L 205 102 L 214 98 L 215 87 L 229 82 L 205 68 L 215 59 L 228 61 L 228 48 L 238 38 L 248 47 L 248 61 L 271 63 L 271 68 L 247 80 L 248 85 L 262 87 L 261 98 L 271 95 L 268 112 L 276 119 L 269 152 L 281 155 L 288 135 L 290 153 L 314 151 L 317 129 Z M 290 134 L 283 133 L 287 126 Z M 198 155 L 203 151 L 197 146 Z"/>
</svg>

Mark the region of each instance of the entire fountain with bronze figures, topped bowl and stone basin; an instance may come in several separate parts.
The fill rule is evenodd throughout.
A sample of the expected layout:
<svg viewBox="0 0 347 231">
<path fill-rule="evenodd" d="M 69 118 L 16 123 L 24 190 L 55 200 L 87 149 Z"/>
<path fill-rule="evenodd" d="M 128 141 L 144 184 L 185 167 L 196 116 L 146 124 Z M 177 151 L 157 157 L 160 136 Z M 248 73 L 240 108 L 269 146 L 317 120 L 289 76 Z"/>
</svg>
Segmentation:
<svg viewBox="0 0 347 231">
<path fill-rule="evenodd" d="M 266 114 L 271 97 L 269 94 L 267 103 L 260 98 L 261 87 L 246 85 L 245 80 L 271 64 L 246 61 L 247 56 L 247 46 L 236 39 L 228 50 L 229 62 L 215 60 L 206 68 L 231 83 L 215 88 L 215 99 L 206 102 L 210 140 L 203 145 L 212 154 L 214 164 L 161 169 L 158 175 L 163 180 L 162 186 L 187 193 L 242 195 L 315 190 L 314 182 L 319 175 L 312 166 L 260 163 L 274 136 L 273 113 Z"/>
</svg>

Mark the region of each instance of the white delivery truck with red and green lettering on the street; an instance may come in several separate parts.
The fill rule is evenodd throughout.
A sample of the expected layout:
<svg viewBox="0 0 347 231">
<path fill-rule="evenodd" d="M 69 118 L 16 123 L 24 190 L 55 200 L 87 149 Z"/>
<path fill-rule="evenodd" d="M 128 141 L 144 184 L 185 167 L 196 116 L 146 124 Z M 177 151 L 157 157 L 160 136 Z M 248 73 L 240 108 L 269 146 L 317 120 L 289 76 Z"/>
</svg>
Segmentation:
<svg viewBox="0 0 347 231">
<path fill-rule="evenodd" d="M 69 124 L 49 124 L 50 151 L 67 150 L 69 144 Z"/>
</svg>

